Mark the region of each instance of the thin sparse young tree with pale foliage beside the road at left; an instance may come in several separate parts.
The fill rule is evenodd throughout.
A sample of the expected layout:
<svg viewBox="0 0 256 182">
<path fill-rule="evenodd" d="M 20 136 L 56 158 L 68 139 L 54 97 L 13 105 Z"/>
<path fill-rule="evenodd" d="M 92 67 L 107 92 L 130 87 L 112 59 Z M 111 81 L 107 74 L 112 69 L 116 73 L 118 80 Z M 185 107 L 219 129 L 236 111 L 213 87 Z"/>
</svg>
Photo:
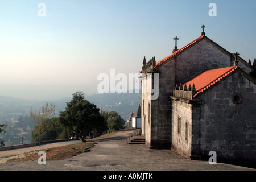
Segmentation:
<svg viewBox="0 0 256 182">
<path fill-rule="evenodd" d="M 32 118 L 36 122 L 35 133 L 39 135 L 39 146 L 41 146 L 40 135 L 43 132 L 43 129 L 47 128 L 47 120 L 55 115 L 54 109 L 55 105 L 48 105 L 48 102 L 46 102 L 46 106 L 43 106 L 41 111 L 34 111 L 30 113 L 30 118 Z"/>
</svg>

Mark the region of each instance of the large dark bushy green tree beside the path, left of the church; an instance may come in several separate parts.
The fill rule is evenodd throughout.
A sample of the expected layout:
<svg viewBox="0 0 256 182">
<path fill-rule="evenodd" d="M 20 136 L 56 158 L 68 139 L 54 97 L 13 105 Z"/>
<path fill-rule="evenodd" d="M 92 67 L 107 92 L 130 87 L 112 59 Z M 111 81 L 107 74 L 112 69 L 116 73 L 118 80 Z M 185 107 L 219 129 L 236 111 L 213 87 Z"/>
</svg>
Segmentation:
<svg viewBox="0 0 256 182">
<path fill-rule="evenodd" d="M 82 140 L 86 133 L 91 131 L 102 131 L 104 118 L 100 115 L 100 109 L 96 105 L 84 99 L 84 93 L 75 92 L 73 98 L 67 103 L 65 111 L 61 111 L 59 121 L 61 125 L 75 132 Z"/>
</svg>

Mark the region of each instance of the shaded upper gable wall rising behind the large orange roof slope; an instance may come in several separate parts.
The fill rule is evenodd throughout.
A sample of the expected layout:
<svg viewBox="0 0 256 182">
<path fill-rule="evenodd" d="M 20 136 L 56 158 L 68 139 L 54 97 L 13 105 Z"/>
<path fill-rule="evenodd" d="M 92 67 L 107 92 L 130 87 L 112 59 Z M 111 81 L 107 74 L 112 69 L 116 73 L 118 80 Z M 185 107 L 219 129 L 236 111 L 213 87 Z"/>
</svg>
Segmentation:
<svg viewBox="0 0 256 182">
<path fill-rule="evenodd" d="M 202 39 L 177 56 L 176 82 L 184 82 L 208 69 L 224 68 L 232 65 L 233 61 L 231 61 L 228 53 L 216 48 L 208 39 Z"/>
</svg>

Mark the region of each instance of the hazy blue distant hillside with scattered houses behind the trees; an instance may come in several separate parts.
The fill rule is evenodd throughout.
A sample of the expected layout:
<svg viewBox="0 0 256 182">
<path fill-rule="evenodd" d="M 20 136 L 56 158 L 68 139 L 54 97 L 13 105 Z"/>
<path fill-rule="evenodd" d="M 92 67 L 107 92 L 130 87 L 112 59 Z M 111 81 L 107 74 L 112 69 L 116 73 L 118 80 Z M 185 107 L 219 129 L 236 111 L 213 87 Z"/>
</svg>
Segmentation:
<svg viewBox="0 0 256 182">
<path fill-rule="evenodd" d="M 102 111 L 117 111 L 125 121 L 129 117 L 131 111 L 135 111 L 139 104 L 141 104 L 140 93 L 114 93 L 114 94 L 94 94 L 85 95 L 85 99 L 93 102 Z M 67 102 L 71 101 L 70 98 L 61 98 L 57 100 L 26 100 L 14 97 L 0 96 L 0 123 L 13 118 L 14 120 L 19 115 L 29 114 L 30 111 L 40 110 L 46 102 L 52 103 L 56 106 L 56 114 L 59 111 L 64 111 Z"/>
</svg>

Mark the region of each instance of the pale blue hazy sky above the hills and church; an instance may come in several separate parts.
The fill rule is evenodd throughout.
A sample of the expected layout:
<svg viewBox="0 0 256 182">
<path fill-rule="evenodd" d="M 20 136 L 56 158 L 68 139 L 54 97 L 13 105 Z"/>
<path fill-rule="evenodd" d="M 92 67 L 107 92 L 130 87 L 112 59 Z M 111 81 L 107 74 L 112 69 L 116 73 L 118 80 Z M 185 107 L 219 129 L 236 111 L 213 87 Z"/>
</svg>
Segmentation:
<svg viewBox="0 0 256 182">
<path fill-rule="evenodd" d="M 46 5 L 45 11 L 38 7 Z M 217 16 L 209 16 L 216 3 Z M 46 16 L 39 16 L 38 11 Z M 0 1 L 0 95 L 97 93 L 100 73 L 138 73 L 205 34 L 248 61 L 256 57 L 256 1 Z"/>
</svg>

